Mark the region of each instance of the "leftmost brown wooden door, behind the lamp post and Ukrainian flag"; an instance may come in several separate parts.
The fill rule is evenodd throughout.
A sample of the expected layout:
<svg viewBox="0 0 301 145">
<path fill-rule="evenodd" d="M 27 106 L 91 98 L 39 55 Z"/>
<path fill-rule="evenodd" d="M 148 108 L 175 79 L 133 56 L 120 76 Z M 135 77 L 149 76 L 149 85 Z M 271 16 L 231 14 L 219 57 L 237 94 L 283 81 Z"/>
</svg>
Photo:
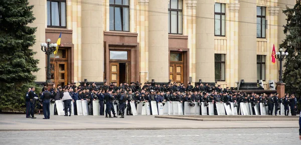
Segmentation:
<svg viewBox="0 0 301 145">
<path fill-rule="evenodd" d="M 54 61 L 51 62 L 51 81 L 56 85 L 61 84 L 62 86 L 67 85 L 68 82 L 68 71 L 67 62 Z"/>
</svg>

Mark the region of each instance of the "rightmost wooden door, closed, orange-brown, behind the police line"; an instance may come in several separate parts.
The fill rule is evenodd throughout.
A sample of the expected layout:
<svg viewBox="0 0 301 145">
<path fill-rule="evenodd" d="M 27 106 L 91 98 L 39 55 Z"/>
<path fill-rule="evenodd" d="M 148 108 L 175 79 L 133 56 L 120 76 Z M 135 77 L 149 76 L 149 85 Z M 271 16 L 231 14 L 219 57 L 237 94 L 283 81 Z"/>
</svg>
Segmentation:
<svg viewBox="0 0 301 145">
<path fill-rule="evenodd" d="M 183 83 L 183 64 L 171 63 L 170 79 L 173 82 Z"/>
</svg>

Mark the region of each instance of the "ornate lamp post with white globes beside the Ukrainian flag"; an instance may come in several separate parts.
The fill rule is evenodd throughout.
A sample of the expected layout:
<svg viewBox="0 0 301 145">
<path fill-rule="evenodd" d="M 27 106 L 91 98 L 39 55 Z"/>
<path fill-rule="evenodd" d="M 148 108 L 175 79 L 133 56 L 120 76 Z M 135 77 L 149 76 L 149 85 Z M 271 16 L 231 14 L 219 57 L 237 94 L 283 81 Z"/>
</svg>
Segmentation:
<svg viewBox="0 0 301 145">
<path fill-rule="evenodd" d="M 50 39 L 46 40 L 47 43 L 41 43 L 41 50 L 45 52 L 47 55 L 47 80 L 46 82 L 51 82 L 51 76 L 50 76 L 50 54 L 56 50 L 56 47 L 58 46 L 57 43 L 50 43 Z"/>
</svg>

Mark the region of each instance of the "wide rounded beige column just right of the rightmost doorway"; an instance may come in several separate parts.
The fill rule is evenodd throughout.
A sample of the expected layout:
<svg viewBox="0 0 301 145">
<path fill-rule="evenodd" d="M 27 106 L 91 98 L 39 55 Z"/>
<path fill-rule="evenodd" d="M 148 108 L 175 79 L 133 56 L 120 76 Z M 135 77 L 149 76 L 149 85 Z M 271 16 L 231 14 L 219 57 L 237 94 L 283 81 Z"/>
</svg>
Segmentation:
<svg viewBox="0 0 301 145">
<path fill-rule="evenodd" d="M 214 82 L 214 0 L 198 0 L 196 8 L 196 82 Z"/>
</svg>

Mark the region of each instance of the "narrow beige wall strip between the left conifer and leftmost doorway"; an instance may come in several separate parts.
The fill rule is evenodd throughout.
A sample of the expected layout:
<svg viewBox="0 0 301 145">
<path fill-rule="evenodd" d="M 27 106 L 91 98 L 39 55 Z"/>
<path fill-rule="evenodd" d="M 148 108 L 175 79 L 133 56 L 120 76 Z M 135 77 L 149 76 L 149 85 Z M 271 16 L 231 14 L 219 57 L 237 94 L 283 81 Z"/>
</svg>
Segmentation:
<svg viewBox="0 0 301 145">
<path fill-rule="evenodd" d="M 41 43 L 45 43 L 45 25 L 46 23 L 46 0 L 29 0 L 31 5 L 34 5 L 33 13 L 36 19 L 33 23 L 30 23 L 29 26 L 37 27 L 36 35 L 36 44 L 32 47 L 35 54 L 34 58 L 39 59 L 38 67 L 40 70 L 34 72 L 33 74 L 37 76 L 35 81 L 45 81 L 46 80 L 46 54 L 41 50 Z M 53 40 L 52 40 L 53 41 Z"/>
</svg>

